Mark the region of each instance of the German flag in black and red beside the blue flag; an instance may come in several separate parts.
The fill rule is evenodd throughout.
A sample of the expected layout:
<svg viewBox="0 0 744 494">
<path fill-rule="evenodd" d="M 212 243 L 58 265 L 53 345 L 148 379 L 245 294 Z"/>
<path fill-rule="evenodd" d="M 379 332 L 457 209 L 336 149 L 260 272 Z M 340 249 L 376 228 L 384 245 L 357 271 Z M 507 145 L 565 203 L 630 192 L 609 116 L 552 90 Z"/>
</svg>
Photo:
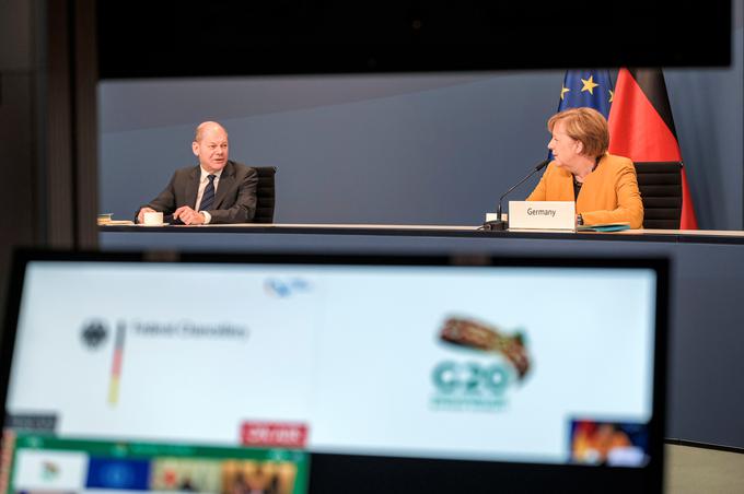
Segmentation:
<svg viewBox="0 0 744 494">
<path fill-rule="evenodd" d="M 633 162 L 682 162 L 661 69 L 619 70 L 609 110 L 609 152 Z M 697 230 L 684 167 L 679 227 Z"/>
</svg>

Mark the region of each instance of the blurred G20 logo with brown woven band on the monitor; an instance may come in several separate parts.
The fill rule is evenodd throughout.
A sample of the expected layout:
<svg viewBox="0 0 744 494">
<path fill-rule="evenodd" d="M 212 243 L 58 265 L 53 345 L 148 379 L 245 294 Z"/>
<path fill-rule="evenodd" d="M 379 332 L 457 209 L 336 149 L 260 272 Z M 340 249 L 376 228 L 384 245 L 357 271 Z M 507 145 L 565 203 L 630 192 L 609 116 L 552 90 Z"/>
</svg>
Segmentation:
<svg viewBox="0 0 744 494">
<path fill-rule="evenodd" d="M 434 410 L 501 410 L 510 391 L 523 385 L 530 374 L 523 331 L 504 334 L 480 321 L 451 317 L 440 330 L 439 341 L 467 356 L 434 365 L 430 400 Z"/>
</svg>

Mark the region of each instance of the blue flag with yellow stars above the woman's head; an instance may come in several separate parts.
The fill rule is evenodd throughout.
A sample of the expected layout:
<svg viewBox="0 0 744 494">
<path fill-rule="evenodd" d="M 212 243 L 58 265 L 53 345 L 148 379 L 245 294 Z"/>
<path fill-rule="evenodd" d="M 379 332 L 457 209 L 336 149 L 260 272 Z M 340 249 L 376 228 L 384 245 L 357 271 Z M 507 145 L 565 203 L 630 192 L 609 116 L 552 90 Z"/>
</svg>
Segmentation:
<svg viewBox="0 0 744 494">
<path fill-rule="evenodd" d="M 560 89 L 558 111 L 589 106 L 608 118 L 613 95 L 608 70 L 569 70 Z"/>
</svg>

